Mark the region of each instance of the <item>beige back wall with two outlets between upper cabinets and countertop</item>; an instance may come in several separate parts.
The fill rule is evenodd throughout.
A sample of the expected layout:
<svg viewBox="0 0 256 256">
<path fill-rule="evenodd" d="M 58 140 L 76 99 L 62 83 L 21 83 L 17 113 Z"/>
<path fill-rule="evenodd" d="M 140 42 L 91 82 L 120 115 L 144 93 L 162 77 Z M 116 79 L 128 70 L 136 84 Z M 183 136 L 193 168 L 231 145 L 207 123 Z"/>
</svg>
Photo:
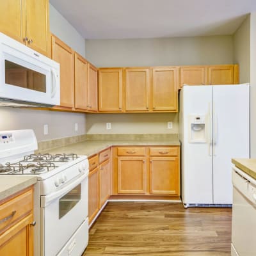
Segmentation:
<svg viewBox="0 0 256 256">
<path fill-rule="evenodd" d="M 107 122 L 111 123 L 111 130 L 106 130 Z M 173 129 L 167 129 L 167 122 L 173 122 Z M 120 113 L 87 115 L 86 130 L 88 134 L 178 133 L 179 114 Z"/>
</svg>

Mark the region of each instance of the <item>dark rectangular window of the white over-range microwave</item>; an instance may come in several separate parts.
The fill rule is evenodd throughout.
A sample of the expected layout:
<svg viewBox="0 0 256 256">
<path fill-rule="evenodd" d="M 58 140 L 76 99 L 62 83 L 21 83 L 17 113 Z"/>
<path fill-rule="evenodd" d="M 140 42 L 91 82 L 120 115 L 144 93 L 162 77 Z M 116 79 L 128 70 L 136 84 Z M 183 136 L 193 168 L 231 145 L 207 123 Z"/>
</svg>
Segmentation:
<svg viewBox="0 0 256 256">
<path fill-rule="evenodd" d="M 5 60 L 5 83 L 38 92 L 46 92 L 45 74 L 8 60 Z"/>
</svg>

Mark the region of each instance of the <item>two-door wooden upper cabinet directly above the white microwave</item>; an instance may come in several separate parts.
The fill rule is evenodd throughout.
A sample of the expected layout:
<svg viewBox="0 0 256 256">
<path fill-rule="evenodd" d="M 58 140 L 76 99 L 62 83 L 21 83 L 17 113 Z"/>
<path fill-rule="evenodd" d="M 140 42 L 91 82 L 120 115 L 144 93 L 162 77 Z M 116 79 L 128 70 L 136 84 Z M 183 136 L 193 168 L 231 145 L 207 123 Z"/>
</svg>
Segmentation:
<svg viewBox="0 0 256 256">
<path fill-rule="evenodd" d="M 49 1 L 1 1 L 0 31 L 49 56 Z"/>
</svg>

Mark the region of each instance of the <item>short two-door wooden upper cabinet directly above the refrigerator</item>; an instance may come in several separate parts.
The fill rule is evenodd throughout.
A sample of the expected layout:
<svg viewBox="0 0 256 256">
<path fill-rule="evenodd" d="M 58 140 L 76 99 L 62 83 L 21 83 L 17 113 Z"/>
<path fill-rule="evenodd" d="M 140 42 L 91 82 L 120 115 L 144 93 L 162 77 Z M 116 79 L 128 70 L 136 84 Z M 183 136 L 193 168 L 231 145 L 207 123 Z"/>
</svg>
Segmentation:
<svg viewBox="0 0 256 256">
<path fill-rule="evenodd" d="M 238 65 L 183 66 L 180 67 L 180 88 L 183 84 L 238 84 Z"/>
</svg>

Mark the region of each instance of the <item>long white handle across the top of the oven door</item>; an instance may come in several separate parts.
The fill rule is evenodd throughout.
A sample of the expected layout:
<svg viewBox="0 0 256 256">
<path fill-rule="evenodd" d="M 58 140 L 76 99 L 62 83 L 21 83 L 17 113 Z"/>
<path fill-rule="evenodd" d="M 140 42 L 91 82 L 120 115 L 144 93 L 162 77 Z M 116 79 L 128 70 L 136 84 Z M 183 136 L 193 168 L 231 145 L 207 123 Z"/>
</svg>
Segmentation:
<svg viewBox="0 0 256 256">
<path fill-rule="evenodd" d="M 77 175 L 74 179 L 67 182 L 65 186 L 62 186 L 60 190 L 46 196 L 41 196 L 41 208 L 45 208 L 47 205 L 51 204 L 52 201 L 56 200 L 56 198 L 65 195 L 68 191 L 72 190 L 84 179 L 86 179 L 86 177 L 88 177 L 88 172 L 82 172 L 81 174 Z"/>
</svg>

